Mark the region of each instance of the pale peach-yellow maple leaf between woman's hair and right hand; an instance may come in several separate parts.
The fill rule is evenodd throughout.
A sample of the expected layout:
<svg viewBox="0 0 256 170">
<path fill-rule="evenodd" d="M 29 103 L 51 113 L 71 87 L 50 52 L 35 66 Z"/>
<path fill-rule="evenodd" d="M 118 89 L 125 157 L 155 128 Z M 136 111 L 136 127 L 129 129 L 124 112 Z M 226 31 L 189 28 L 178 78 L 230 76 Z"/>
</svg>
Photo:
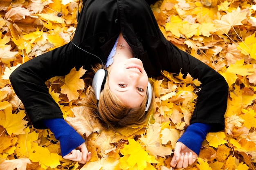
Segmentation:
<svg viewBox="0 0 256 170">
<path fill-rule="evenodd" d="M 144 146 L 146 147 L 146 151 L 150 152 L 150 155 L 153 155 L 155 157 L 157 157 L 157 155 L 161 157 L 171 155 L 171 153 L 173 153 L 171 148 L 162 146 L 160 134 L 161 124 L 154 123 L 153 125 L 148 126 L 146 137 L 143 136 L 139 139 L 143 142 Z"/>
</svg>

